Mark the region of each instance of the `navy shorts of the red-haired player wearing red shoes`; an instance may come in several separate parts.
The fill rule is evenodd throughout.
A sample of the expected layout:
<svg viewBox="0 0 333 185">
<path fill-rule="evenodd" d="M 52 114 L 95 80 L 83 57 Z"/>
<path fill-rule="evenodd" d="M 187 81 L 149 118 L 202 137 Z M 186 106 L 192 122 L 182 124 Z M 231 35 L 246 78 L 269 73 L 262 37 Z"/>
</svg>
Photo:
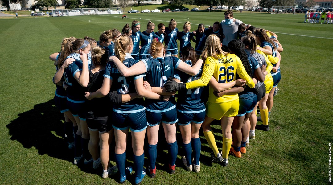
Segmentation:
<svg viewBox="0 0 333 185">
<path fill-rule="evenodd" d="M 178 121 L 176 107 L 166 112 L 150 112 L 146 110 L 146 116 L 148 126 L 156 126 L 160 124 L 161 121 L 165 124 L 173 124 Z"/>
</svg>

